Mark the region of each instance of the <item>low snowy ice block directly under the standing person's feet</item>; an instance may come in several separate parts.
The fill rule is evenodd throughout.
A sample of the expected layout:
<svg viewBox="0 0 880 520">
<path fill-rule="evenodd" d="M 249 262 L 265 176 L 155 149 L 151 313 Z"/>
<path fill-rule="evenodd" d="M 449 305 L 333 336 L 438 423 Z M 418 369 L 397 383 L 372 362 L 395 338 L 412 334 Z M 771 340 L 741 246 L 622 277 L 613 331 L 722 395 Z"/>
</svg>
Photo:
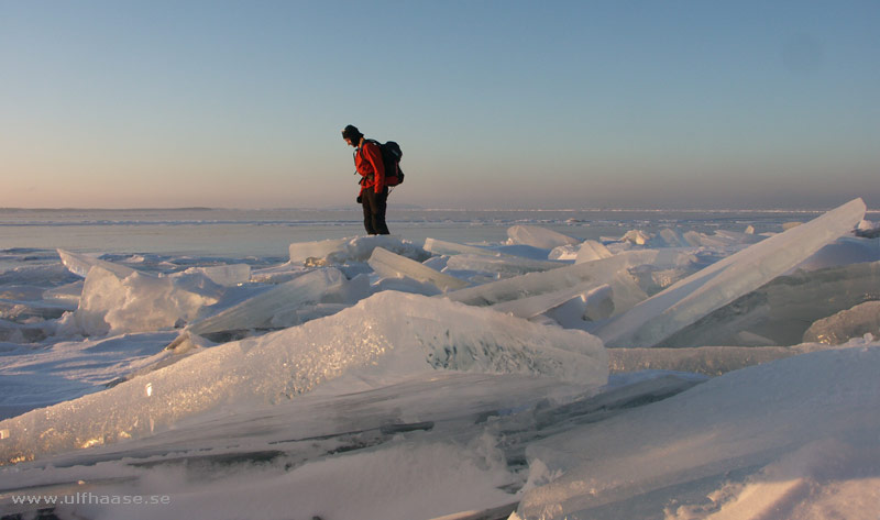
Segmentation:
<svg viewBox="0 0 880 520">
<path fill-rule="evenodd" d="M 366 262 L 373 250 L 383 247 L 416 261 L 428 259 L 428 254 L 411 242 L 394 235 L 354 236 L 348 239 L 323 240 L 318 242 L 293 243 L 289 246 L 290 263 L 301 264 L 312 258 L 314 265 L 345 264 Z"/>
</svg>

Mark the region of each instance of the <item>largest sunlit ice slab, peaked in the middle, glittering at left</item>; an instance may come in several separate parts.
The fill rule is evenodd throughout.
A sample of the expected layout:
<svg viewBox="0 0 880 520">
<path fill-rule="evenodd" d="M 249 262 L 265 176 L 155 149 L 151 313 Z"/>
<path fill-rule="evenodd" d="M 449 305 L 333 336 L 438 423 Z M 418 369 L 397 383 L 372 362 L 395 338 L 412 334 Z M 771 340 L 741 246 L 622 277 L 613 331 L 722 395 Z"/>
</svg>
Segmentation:
<svg viewBox="0 0 880 520">
<path fill-rule="evenodd" d="M 582 331 L 384 291 L 332 317 L 217 345 L 105 391 L 0 421 L 0 461 L 142 438 L 219 407 L 284 402 L 342 376 L 393 380 L 433 370 L 598 386 L 607 381 L 608 358 L 598 339 Z"/>
</svg>

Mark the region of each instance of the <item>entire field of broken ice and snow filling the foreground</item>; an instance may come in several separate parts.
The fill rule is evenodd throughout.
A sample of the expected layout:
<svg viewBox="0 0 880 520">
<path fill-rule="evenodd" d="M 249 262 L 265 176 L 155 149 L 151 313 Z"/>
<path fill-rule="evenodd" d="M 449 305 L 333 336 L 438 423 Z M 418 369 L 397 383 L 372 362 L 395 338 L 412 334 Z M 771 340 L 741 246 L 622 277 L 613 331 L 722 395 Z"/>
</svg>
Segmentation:
<svg viewBox="0 0 880 520">
<path fill-rule="evenodd" d="M 59 250 L 0 273 L 0 515 L 873 518 L 865 208 L 256 267 Z"/>
</svg>

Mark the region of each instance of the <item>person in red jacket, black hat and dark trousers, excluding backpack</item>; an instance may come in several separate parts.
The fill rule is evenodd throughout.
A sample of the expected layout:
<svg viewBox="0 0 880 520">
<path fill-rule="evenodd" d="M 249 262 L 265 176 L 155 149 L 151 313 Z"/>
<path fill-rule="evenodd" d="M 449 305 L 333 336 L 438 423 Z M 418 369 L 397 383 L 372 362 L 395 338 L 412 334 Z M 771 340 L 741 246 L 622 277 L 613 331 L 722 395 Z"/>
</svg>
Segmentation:
<svg viewBox="0 0 880 520">
<path fill-rule="evenodd" d="M 382 148 L 377 142 L 364 139 L 364 134 L 352 124 L 342 130 L 342 139 L 350 146 L 354 146 L 354 168 L 361 175 L 358 202 L 364 209 L 364 228 L 371 235 L 389 234 L 388 225 L 385 223 L 388 184 L 385 165 L 382 162 Z"/>
</svg>

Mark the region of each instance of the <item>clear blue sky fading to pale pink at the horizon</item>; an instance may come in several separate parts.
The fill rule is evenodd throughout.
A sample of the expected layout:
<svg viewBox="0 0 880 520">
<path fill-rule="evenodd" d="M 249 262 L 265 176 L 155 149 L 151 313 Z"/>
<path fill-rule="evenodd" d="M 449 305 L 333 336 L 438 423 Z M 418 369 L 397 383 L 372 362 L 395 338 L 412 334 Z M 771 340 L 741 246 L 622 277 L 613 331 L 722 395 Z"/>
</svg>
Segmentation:
<svg viewBox="0 0 880 520">
<path fill-rule="evenodd" d="M 880 2 L 0 0 L 0 207 L 880 207 Z"/>
</svg>

